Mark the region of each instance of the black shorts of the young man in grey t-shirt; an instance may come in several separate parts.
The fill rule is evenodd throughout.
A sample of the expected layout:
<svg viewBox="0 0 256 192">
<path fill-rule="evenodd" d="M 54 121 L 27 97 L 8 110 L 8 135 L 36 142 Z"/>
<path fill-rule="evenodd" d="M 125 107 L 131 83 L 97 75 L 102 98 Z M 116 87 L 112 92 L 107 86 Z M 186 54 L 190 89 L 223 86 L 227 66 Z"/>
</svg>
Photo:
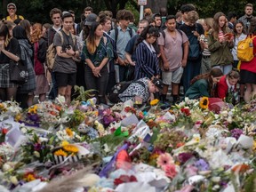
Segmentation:
<svg viewBox="0 0 256 192">
<path fill-rule="evenodd" d="M 76 84 L 76 73 L 60 73 L 54 72 L 53 73 L 56 80 L 57 87 L 65 87 L 67 85 L 74 86 Z"/>
</svg>

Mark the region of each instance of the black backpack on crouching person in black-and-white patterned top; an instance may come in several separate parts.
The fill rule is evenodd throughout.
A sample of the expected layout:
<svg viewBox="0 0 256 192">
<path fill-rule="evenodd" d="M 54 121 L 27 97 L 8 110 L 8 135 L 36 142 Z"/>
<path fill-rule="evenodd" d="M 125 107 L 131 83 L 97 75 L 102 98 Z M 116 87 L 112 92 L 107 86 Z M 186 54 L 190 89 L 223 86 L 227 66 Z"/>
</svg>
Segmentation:
<svg viewBox="0 0 256 192">
<path fill-rule="evenodd" d="M 112 103 L 118 103 L 121 102 L 121 100 L 119 99 L 119 94 L 123 93 L 130 84 L 132 83 L 137 83 L 137 84 L 141 84 L 144 88 L 146 87 L 145 84 L 143 84 L 140 81 L 126 81 L 126 82 L 120 82 L 118 84 L 116 84 L 112 89 L 111 92 L 108 93 L 108 100 L 110 100 L 110 102 Z M 129 96 L 130 97 L 130 96 Z"/>
</svg>

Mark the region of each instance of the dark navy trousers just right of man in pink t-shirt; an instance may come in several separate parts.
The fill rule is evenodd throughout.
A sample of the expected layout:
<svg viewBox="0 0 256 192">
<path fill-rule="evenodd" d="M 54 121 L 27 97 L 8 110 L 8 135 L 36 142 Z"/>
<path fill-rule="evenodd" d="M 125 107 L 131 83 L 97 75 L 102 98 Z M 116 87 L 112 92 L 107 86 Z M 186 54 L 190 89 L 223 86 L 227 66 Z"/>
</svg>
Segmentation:
<svg viewBox="0 0 256 192">
<path fill-rule="evenodd" d="M 190 81 L 200 74 L 201 58 L 198 60 L 188 60 L 187 66 L 184 68 L 182 82 L 184 87 L 184 93 L 187 92 L 190 86 Z"/>
</svg>

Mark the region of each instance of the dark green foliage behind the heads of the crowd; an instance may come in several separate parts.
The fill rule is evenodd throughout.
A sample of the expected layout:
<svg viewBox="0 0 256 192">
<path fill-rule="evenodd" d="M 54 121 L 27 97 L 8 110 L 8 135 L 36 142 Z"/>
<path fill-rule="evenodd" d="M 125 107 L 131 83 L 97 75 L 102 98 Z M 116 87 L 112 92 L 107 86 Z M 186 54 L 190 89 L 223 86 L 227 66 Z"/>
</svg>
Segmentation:
<svg viewBox="0 0 256 192">
<path fill-rule="evenodd" d="M 4 0 L 2 4 L 0 3 L 3 17 L 7 15 L 6 5 L 9 2 L 10 1 Z M 68 11 L 69 9 L 74 10 L 76 12 L 76 22 L 79 22 L 80 15 L 86 6 L 92 6 L 96 13 L 110 10 L 113 12 L 114 17 L 119 9 L 124 9 L 125 7 L 133 12 L 137 21 L 139 20 L 139 6 L 137 5 L 137 0 L 12 0 L 12 2 L 17 5 L 17 13 L 31 22 L 52 23 L 49 12 L 54 7 L 59 8 L 61 11 Z M 175 14 L 180 10 L 182 4 L 195 4 L 200 18 L 213 17 L 216 12 L 224 12 L 226 14 L 228 14 L 228 12 L 236 12 L 240 17 L 244 15 L 244 5 L 247 3 L 247 0 L 168 0 L 167 8 L 169 14 Z"/>
</svg>

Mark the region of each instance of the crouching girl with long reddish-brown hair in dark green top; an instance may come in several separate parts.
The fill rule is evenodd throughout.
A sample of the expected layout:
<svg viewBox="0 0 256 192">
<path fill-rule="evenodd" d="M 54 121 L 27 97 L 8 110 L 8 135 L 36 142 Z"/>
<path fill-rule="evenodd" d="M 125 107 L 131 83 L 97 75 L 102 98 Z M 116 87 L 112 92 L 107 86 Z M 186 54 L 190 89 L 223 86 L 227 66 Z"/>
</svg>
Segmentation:
<svg viewBox="0 0 256 192">
<path fill-rule="evenodd" d="M 190 87 L 185 94 L 189 99 L 198 99 L 200 97 L 216 97 L 217 83 L 223 76 L 220 68 L 212 68 L 210 73 L 194 77 L 190 82 Z"/>
</svg>

